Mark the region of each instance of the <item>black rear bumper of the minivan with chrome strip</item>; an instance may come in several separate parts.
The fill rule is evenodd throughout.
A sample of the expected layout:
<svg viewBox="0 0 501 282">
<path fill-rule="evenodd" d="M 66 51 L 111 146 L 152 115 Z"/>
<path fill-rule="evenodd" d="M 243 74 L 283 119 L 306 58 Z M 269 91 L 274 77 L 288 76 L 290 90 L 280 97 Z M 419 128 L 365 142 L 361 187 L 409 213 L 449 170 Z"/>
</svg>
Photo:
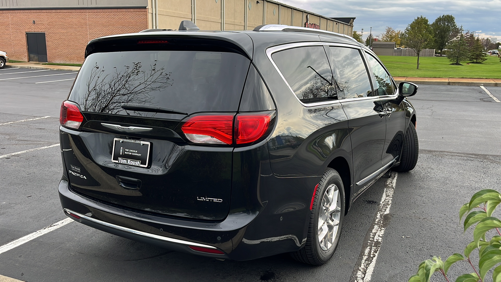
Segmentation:
<svg viewBox="0 0 501 282">
<path fill-rule="evenodd" d="M 58 190 L 65 214 L 75 221 L 175 251 L 232 260 L 256 259 L 301 248 L 306 238 L 303 236 L 306 235 L 306 222 L 300 223 L 297 219 L 309 218 L 310 212 L 303 209 L 289 213 L 288 217 L 296 214 L 289 223 L 279 219 L 286 214 L 272 217 L 266 208 L 255 213 L 229 214 L 218 223 L 196 222 L 139 213 L 98 202 L 73 192 L 66 180 L 59 183 Z M 275 220 L 284 224 L 283 228 L 276 226 Z M 271 224 L 270 221 L 275 222 Z M 224 254 L 196 251 L 189 246 L 217 249 Z"/>
</svg>

